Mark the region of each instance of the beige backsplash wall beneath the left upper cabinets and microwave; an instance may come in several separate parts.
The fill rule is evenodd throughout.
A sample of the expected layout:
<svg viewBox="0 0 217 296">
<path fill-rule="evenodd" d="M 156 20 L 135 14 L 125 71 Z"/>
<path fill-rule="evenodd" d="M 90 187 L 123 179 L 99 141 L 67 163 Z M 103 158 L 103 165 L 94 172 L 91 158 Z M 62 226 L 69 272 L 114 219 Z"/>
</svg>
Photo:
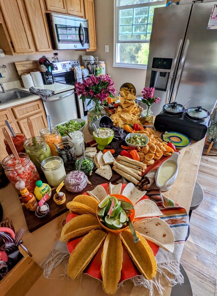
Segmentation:
<svg viewBox="0 0 217 296">
<path fill-rule="evenodd" d="M 81 60 L 81 56 L 84 54 L 81 51 L 75 51 L 75 50 L 59 50 L 54 51 L 58 52 L 60 61 L 68 61 L 68 60 Z M 18 80 L 18 75 L 15 70 L 14 62 L 23 62 L 23 61 L 32 61 L 32 60 L 38 60 L 40 57 L 45 55 L 46 57 L 52 57 L 53 54 L 30 54 L 30 55 L 17 55 L 17 56 L 11 56 L 11 55 L 5 55 L 4 57 L 0 57 L 0 65 L 4 64 L 7 66 L 5 69 L 6 73 L 4 73 L 3 68 L 0 68 L 0 72 L 2 76 L 5 76 L 5 78 L 0 78 L 0 82 L 10 82 L 10 81 L 16 81 Z"/>
</svg>

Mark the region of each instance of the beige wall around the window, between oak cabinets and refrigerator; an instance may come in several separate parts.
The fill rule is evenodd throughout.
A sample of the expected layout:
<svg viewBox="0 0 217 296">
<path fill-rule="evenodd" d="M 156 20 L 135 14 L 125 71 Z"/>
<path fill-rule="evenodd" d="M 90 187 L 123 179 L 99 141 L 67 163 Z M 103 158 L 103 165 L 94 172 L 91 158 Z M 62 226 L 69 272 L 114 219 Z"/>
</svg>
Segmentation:
<svg viewBox="0 0 217 296">
<path fill-rule="evenodd" d="M 94 0 L 97 51 L 88 52 L 105 60 L 106 72 L 111 75 L 116 89 L 124 82 L 131 82 L 136 86 L 137 94 L 141 94 L 145 85 L 145 69 L 113 67 L 114 56 L 114 0 Z M 105 52 L 105 45 L 109 45 L 109 52 Z"/>
</svg>

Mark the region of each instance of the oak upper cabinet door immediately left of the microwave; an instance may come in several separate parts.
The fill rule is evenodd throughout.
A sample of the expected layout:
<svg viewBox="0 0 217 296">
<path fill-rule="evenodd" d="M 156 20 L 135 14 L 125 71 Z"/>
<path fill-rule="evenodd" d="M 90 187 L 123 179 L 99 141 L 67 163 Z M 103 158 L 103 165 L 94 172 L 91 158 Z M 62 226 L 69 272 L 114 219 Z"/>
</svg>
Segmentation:
<svg viewBox="0 0 217 296">
<path fill-rule="evenodd" d="M 24 0 L 33 31 L 36 51 L 51 51 L 52 45 L 43 0 Z"/>
</svg>

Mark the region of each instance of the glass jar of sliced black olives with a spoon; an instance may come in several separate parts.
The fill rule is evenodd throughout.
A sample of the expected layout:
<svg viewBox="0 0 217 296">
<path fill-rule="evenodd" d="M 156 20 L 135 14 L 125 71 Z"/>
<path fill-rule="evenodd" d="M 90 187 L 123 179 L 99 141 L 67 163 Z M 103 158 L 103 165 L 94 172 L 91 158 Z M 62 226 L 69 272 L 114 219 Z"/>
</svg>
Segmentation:
<svg viewBox="0 0 217 296">
<path fill-rule="evenodd" d="M 62 158 L 65 169 L 73 169 L 76 161 L 75 145 L 71 142 L 62 142 L 57 144 L 57 148 L 56 151 Z"/>
</svg>

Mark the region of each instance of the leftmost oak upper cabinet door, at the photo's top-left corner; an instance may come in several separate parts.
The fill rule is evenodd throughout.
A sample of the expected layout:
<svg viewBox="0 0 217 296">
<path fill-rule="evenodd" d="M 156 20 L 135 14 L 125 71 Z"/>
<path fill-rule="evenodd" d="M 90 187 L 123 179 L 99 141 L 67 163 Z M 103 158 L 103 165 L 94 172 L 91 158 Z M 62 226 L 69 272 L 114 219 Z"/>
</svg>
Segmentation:
<svg viewBox="0 0 217 296">
<path fill-rule="evenodd" d="M 16 53 L 32 53 L 34 47 L 23 3 L 21 0 L 1 0 L 0 4 L 14 51 Z"/>
</svg>

